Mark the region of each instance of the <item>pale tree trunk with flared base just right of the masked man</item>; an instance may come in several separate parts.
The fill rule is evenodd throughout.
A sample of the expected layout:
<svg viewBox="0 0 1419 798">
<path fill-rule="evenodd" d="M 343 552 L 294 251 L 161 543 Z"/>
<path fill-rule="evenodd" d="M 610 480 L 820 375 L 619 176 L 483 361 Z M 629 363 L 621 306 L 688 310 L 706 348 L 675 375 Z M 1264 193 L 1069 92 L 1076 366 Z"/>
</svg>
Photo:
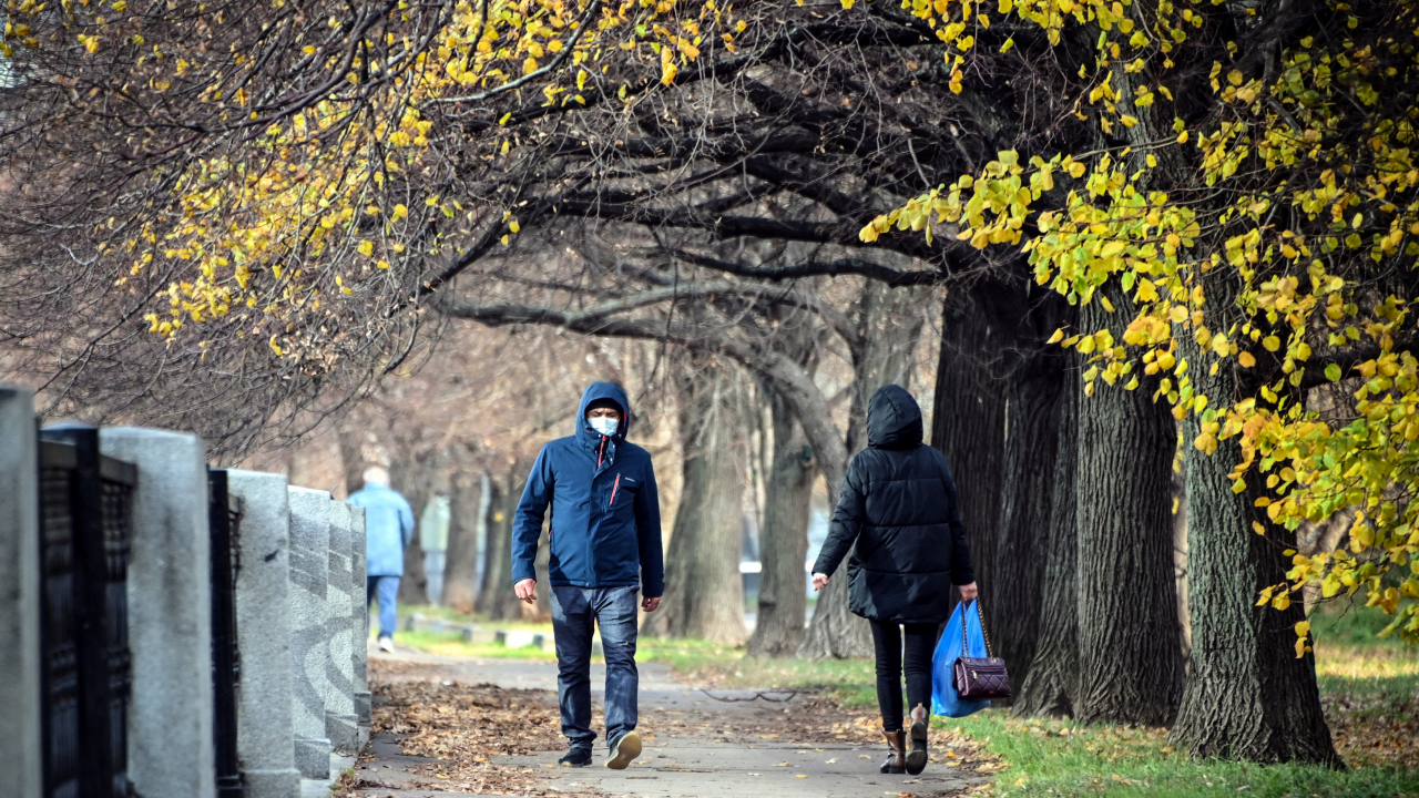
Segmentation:
<svg viewBox="0 0 1419 798">
<path fill-rule="evenodd" d="M 666 596 L 641 628 L 650 636 L 745 640 L 744 486 L 735 464 L 731 379 L 711 366 L 681 381 L 684 487 L 666 552 Z"/>
</svg>

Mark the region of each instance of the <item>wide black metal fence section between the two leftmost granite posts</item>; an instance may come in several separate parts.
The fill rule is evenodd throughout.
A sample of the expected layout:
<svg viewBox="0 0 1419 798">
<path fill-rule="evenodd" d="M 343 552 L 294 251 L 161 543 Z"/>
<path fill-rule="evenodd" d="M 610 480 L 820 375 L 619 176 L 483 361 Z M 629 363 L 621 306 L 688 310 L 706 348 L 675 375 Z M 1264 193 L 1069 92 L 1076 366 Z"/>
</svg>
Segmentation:
<svg viewBox="0 0 1419 798">
<path fill-rule="evenodd" d="M 41 430 L 45 798 L 128 798 L 129 520 L 138 469 L 98 429 Z"/>
</svg>

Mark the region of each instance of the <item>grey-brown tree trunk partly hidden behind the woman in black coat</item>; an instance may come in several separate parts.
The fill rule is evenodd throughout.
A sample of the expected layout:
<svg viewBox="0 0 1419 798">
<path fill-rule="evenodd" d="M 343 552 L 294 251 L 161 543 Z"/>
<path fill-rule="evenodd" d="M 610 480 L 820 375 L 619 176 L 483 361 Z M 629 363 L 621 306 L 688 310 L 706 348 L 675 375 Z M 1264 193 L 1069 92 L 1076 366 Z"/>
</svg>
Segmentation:
<svg viewBox="0 0 1419 798">
<path fill-rule="evenodd" d="M 853 351 L 853 395 L 847 422 L 847 449 L 857 453 L 867 446 L 867 403 L 883 385 L 905 386 L 911 378 L 912 351 L 921 337 L 922 321 L 912 312 L 914 293 L 908 288 L 891 288 L 877 281 L 863 287 L 857 302 L 857 337 Z M 799 420 L 805 430 L 810 427 L 810 415 L 799 408 Z M 810 442 L 813 436 L 809 436 Z M 823 449 L 815 444 L 815 452 Z M 841 490 L 843 467 L 829 467 L 829 457 L 819 457 L 827 496 L 837 505 Z M 832 508 L 829 508 L 832 513 Z M 839 571 L 846 576 L 844 571 Z M 847 608 L 847 579 L 829 582 L 817 595 L 813 608 L 813 622 L 799 646 L 799 656 L 850 657 L 873 656 L 873 633 L 866 621 Z"/>
</svg>

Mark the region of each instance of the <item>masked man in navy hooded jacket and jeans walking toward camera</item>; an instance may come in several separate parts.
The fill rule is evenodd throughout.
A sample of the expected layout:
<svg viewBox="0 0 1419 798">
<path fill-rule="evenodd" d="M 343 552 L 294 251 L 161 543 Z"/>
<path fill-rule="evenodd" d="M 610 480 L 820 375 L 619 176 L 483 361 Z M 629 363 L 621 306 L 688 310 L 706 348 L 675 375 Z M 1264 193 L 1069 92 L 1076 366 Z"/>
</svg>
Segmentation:
<svg viewBox="0 0 1419 798">
<path fill-rule="evenodd" d="M 640 755 L 636 734 L 636 592 L 656 612 L 666 591 L 660 497 L 650 454 L 626 442 L 630 402 L 619 385 L 593 382 L 576 410 L 575 434 L 545 446 L 532 464 L 512 528 L 512 585 L 536 603 L 536 541 L 552 508 L 549 537 L 556 692 L 568 753 L 558 764 L 592 763 L 592 629 L 606 655 L 606 767 Z"/>
</svg>

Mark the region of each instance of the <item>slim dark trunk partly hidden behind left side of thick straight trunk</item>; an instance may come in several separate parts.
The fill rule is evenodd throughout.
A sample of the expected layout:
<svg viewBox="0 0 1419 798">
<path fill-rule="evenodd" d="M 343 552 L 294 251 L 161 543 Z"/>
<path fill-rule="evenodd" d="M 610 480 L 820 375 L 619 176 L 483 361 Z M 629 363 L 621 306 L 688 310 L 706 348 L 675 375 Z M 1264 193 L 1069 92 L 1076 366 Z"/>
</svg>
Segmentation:
<svg viewBox="0 0 1419 798">
<path fill-rule="evenodd" d="M 1074 359 L 1073 356 L 1070 359 Z M 1044 579 L 1034 659 L 1015 699 L 1017 716 L 1074 714 L 1078 694 L 1078 535 L 1074 473 L 1078 467 L 1078 365 L 1070 362 L 1059 400 L 1054 486 L 1046 527 Z"/>
</svg>

